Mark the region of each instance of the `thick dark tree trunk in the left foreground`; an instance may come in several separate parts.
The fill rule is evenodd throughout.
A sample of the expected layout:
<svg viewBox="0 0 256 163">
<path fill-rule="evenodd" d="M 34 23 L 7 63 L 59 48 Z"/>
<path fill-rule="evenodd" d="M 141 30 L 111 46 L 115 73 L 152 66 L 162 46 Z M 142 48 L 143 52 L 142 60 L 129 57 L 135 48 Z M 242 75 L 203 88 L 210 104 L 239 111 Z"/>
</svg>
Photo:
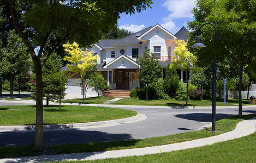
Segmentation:
<svg viewBox="0 0 256 163">
<path fill-rule="evenodd" d="M 36 57 L 35 57 L 36 58 Z M 35 66 L 35 75 L 37 82 L 37 112 L 35 120 L 35 139 L 34 139 L 34 148 L 35 150 L 43 150 L 43 80 L 42 80 L 42 71 L 41 64 L 38 59 L 33 59 Z"/>
</svg>

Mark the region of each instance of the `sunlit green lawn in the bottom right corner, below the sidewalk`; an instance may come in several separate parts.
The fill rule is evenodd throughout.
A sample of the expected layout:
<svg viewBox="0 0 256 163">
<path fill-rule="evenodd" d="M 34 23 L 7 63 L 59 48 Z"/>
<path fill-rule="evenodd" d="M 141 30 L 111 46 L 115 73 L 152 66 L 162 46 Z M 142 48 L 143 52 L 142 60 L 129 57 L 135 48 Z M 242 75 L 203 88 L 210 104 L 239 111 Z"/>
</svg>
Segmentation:
<svg viewBox="0 0 256 163">
<path fill-rule="evenodd" d="M 256 133 L 239 139 L 215 143 L 211 146 L 160 154 L 69 162 L 256 162 L 255 137 Z"/>
</svg>

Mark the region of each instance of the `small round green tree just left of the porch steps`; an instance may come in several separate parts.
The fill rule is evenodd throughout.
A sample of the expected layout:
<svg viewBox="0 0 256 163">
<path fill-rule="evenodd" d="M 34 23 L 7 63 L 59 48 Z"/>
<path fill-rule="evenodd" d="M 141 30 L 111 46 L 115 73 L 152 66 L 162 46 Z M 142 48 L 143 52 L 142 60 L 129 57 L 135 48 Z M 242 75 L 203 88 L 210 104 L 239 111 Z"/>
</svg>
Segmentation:
<svg viewBox="0 0 256 163">
<path fill-rule="evenodd" d="M 98 97 L 101 92 L 109 89 L 109 86 L 105 84 L 105 79 L 101 73 L 94 73 L 90 80 L 92 91 L 97 92 Z"/>
</svg>

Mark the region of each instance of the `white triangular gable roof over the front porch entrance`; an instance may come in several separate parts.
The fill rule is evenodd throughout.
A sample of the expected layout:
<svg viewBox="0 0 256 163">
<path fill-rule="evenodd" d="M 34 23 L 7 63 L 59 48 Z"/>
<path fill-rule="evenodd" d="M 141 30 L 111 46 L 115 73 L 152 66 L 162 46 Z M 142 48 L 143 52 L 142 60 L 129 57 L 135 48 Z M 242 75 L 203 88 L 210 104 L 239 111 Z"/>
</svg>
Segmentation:
<svg viewBox="0 0 256 163">
<path fill-rule="evenodd" d="M 125 55 L 120 55 L 120 57 L 106 64 L 104 68 L 139 68 L 139 64 Z"/>
</svg>

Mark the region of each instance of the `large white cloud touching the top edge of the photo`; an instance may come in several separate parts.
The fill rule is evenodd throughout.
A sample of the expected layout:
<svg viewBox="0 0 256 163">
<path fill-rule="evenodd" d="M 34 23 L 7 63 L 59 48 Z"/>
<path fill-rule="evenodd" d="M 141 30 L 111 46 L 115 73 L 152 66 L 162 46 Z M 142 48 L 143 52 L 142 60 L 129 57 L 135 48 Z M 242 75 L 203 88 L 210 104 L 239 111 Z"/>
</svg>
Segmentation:
<svg viewBox="0 0 256 163">
<path fill-rule="evenodd" d="M 195 7 L 194 0 L 166 0 L 163 4 L 171 14 L 168 17 L 163 18 L 165 22 L 174 20 L 175 18 L 189 17 L 193 18 L 191 13 L 192 9 Z"/>
</svg>

